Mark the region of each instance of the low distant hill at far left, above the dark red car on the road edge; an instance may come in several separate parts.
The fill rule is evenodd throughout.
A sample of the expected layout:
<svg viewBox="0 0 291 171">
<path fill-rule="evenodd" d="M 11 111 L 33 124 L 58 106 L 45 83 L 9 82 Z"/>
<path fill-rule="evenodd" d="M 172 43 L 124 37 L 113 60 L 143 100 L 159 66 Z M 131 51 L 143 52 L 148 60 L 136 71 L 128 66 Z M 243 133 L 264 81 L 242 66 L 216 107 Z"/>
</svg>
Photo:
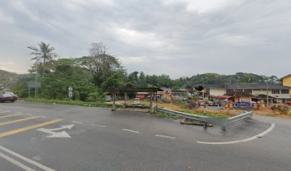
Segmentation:
<svg viewBox="0 0 291 171">
<path fill-rule="evenodd" d="M 11 88 L 16 85 L 20 76 L 22 76 L 22 74 L 0 70 L 0 85 L 4 85 L 6 88 Z"/>
</svg>

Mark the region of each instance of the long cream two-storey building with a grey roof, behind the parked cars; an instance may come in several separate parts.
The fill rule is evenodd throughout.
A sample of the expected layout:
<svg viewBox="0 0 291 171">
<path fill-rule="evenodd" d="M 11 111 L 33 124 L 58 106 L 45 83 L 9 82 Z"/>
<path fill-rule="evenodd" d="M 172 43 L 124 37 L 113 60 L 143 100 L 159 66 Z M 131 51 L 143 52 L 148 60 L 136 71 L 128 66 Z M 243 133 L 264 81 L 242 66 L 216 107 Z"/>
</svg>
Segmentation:
<svg viewBox="0 0 291 171">
<path fill-rule="evenodd" d="M 241 91 L 251 95 L 266 96 L 268 99 L 277 103 L 287 103 L 291 99 L 289 86 L 278 84 L 262 84 L 262 83 L 228 83 L 220 85 L 205 85 L 205 93 L 209 95 L 225 95 L 234 91 Z M 261 99 L 265 100 L 265 99 Z"/>
</svg>

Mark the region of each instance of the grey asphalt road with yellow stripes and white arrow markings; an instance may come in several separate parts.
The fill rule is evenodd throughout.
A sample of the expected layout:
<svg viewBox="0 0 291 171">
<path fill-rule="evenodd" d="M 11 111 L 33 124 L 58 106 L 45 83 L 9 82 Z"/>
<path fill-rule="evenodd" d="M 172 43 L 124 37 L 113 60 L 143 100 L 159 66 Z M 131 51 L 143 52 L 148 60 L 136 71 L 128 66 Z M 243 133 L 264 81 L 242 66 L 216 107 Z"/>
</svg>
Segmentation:
<svg viewBox="0 0 291 171">
<path fill-rule="evenodd" d="M 254 118 L 223 131 L 110 108 L 0 103 L 0 170 L 291 170 L 291 120 Z"/>
</svg>

